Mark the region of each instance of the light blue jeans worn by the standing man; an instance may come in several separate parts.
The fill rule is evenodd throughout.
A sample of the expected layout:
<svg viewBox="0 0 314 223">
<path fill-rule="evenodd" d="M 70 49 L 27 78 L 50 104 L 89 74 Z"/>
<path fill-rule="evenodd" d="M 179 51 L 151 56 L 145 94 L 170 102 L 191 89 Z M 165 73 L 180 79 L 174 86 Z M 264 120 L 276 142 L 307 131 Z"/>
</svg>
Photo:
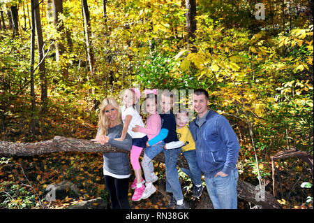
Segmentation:
<svg viewBox="0 0 314 223">
<path fill-rule="evenodd" d="M 226 177 L 209 177 L 204 174 L 207 192 L 215 209 L 237 209 L 237 182 L 239 173 L 235 168 Z"/>
</svg>

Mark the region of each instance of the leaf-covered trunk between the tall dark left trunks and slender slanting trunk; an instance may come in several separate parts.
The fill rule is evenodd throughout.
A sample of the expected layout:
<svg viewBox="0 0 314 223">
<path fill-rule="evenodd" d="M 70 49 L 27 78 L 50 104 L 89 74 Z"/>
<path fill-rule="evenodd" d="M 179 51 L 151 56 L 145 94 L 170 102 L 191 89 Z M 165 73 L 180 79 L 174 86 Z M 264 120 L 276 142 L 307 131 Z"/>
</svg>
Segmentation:
<svg viewBox="0 0 314 223">
<path fill-rule="evenodd" d="M 53 8 L 54 8 L 54 26 L 56 27 L 57 31 L 61 33 L 61 36 L 63 36 L 64 33 L 64 26 L 63 22 L 59 20 L 59 14 L 63 13 L 63 5 L 62 0 L 53 0 Z M 64 47 L 63 43 L 61 42 L 61 38 L 57 39 L 56 41 L 56 60 L 59 63 L 59 66 L 61 66 L 61 71 L 63 78 L 68 79 L 68 68 L 67 65 L 61 65 L 60 62 L 60 56 L 62 57 L 63 53 L 66 51 L 66 48 Z"/>
</svg>

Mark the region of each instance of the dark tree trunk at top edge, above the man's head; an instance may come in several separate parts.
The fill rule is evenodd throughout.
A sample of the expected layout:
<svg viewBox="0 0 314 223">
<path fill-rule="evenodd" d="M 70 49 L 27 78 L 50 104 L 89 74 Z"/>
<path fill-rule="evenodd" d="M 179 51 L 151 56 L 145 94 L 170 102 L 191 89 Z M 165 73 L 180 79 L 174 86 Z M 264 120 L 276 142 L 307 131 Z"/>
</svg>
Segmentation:
<svg viewBox="0 0 314 223">
<path fill-rule="evenodd" d="M 188 50 L 191 52 L 197 52 L 193 42 L 195 41 L 195 31 L 196 31 L 196 1 L 186 0 L 186 31 L 188 32 L 187 43 Z"/>
</svg>

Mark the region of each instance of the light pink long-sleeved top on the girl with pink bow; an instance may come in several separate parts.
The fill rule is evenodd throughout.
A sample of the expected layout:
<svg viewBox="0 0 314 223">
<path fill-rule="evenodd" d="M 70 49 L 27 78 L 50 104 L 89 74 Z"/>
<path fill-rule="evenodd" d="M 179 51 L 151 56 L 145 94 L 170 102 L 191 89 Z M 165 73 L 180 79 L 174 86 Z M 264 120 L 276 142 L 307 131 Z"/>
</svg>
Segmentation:
<svg viewBox="0 0 314 223">
<path fill-rule="evenodd" d="M 158 115 L 158 113 L 155 113 L 147 117 L 146 128 L 140 127 L 139 131 L 144 134 L 147 134 L 147 137 L 149 138 L 149 140 L 151 140 L 152 138 L 159 134 L 160 129 L 161 118 L 160 115 Z"/>
</svg>

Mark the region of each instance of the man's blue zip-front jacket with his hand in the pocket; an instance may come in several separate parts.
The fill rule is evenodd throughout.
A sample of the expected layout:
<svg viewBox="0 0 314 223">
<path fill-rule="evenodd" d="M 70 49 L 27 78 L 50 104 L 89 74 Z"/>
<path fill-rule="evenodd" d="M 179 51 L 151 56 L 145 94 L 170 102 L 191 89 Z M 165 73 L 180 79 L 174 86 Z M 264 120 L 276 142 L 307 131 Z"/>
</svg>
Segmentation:
<svg viewBox="0 0 314 223">
<path fill-rule="evenodd" d="M 240 145 L 237 135 L 223 115 L 209 110 L 206 121 L 198 126 L 193 120 L 190 132 L 196 145 L 197 164 L 204 174 L 219 171 L 230 174 L 236 168 Z"/>
</svg>

